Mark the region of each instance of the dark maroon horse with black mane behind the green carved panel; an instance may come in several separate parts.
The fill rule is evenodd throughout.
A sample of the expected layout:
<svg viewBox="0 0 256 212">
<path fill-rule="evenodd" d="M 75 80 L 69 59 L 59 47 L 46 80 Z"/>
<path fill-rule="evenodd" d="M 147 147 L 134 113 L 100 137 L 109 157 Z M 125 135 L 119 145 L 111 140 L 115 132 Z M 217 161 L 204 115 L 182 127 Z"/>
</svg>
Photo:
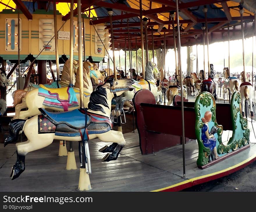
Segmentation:
<svg viewBox="0 0 256 212">
<path fill-rule="evenodd" d="M 208 79 L 202 80 L 200 91 L 201 93 L 204 91 L 208 91 L 214 96 L 215 100 L 218 100 L 218 96 L 216 94 L 216 83 L 214 82 L 215 71 L 213 68 L 213 64 L 210 64 L 210 76 Z"/>
</svg>

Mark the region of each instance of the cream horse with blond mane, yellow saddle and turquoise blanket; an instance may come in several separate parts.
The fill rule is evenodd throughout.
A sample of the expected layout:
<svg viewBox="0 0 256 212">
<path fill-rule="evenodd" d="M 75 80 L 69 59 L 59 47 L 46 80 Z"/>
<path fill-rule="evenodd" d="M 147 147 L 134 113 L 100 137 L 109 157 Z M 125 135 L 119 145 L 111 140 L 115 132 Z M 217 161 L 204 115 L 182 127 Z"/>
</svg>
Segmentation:
<svg viewBox="0 0 256 212">
<path fill-rule="evenodd" d="M 93 85 L 90 78 L 93 79 L 95 84 L 99 81 L 104 81 L 102 74 L 99 72 L 98 67 L 94 66 L 90 62 L 83 62 L 83 92 L 84 92 L 84 107 L 87 107 L 89 103 L 90 94 L 93 92 Z M 80 67 L 78 67 L 79 69 Z M 47 88 L 44 85 L 40 85 L 40 88 L 33 89 L 27 92 L 24 101 L 24 108 L 28 110 L 16 111 L 13 119 L 21 118 L 27 119 L 30 116 L 40 114 L 38 108 L 51 109 L 54 111 L 70 111 L 80 107 L 80 94 L 79 94 L 79 72 L 75 80 L 73 87 L 62 88 Z"/>
</svg>

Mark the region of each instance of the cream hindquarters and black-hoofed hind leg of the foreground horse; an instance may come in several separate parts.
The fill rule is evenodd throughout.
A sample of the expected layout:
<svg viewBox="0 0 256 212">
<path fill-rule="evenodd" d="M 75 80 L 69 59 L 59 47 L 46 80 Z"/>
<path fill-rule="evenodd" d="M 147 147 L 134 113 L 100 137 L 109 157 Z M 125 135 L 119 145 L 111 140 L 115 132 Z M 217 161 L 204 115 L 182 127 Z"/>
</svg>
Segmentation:
<svg viewBox="0 0 256 212">
<path fill-rule="evenodd" d="M 27 137 L 27 141 L 16 144 L 17 149 L 17 161 L 12 167 L 11 175 L 13 179 L 19 177 L 19 175 L 25 170 L 25 156 L 28 152 L 38 150 L 50 145 L 54 139 L 54 133 L 38 134 L 38 117 L 26 121 L 23 127 L 24 134 Z"/>
</svg>

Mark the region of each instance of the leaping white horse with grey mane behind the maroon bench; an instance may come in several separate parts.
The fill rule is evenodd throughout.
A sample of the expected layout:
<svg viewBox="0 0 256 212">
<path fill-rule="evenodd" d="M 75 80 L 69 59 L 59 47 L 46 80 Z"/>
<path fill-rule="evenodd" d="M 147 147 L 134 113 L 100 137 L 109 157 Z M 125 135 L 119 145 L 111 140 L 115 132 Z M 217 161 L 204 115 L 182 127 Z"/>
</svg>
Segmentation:
<svg viewBox="0 0 256 212">
<path fill-rule="evenodd" d="M 145 71 L 145 80 L 141 79 L 139 81 L 134 81 L 132 87 L 134 87 L 134 91 L 126 91 L 121 96 L 116 98 L 116 107 L 113 110 L 113 116 L 119 116 L 123 112 L 123 106 L 125 102 L 129 102 L 134 97 L 134 94 L 141 89 L 149 89 L 158 104 L 162 103 L 162 92 L 159 87 L 156 85 L 156 79 L 154 78 L 154 73 L 158 74 L 158 70 L 156 68 L 156 64 L 152 61 L 147 62 L 146 71 Z M 128 107 L 133 108 L 133 105 L 127 104 Z"/>
</svg>

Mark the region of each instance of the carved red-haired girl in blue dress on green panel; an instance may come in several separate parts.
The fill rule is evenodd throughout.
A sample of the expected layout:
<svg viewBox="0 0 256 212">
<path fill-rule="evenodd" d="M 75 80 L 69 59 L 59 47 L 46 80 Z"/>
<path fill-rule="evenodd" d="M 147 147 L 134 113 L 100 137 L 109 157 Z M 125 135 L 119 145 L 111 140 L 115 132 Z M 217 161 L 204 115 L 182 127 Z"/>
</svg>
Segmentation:
<svg viewBox="0 0 256 212">
<path fill-rule="evenodd" d="M 216 150 L 216 138 L 213 134 L 210 134 L 208 122 L 211 121 L 211 112 L 206 111 L 204 118 L 202 118 L 202 122 L 204 123 L 202 126 L 202 141 L 205 147 L 210 148 L 211 155 L 213 152 L 212 159 L 216 160 L 218 158 L 217 150 Z"/>
</svg>

